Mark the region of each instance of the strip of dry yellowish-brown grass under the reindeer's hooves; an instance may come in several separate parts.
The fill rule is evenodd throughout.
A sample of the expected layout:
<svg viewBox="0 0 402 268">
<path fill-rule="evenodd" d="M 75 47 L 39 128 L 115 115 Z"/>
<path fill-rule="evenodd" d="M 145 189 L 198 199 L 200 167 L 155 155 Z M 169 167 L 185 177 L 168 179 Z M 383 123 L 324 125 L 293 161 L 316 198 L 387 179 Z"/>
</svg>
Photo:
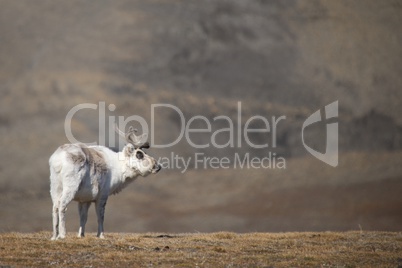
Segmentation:
<svg viewBox="0 0 402 268">
<path fill-rule="evenodd" d="M 321 232 L 196 234 L 0 234 L 0 266 L 69 267 L 397 267 L 402 234 Z"/>
</svg>

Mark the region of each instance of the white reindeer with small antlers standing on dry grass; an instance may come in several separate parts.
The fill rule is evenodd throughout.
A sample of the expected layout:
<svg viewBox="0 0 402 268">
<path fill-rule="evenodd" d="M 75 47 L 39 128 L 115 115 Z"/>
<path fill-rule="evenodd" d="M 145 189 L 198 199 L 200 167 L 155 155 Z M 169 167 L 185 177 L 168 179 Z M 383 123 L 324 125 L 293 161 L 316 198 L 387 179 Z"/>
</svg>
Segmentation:
<svg viewBox="0 0 402 268">
<path fill-rule="evenodd" d="M 149 148 L 148 142 L 144 142 L 146 134 L 136 136 L 133 128 L 127 134 L 117 131 L 128 142 L 121 152 L 113 152 L 104 146 L 65 144 L 50 157 L 52 240 L 65 238 L 65 214 L 72 200 L 78 202 L 80 214 L 78 237 L 84 237 L 88 209 L 95 202 L 97 236 L 104 238 L 103 220 L 109 195 L 119 193 L 137 176 L 145 177 L 161 169 L 156 160 L 142 150 Z"/>
</svg>

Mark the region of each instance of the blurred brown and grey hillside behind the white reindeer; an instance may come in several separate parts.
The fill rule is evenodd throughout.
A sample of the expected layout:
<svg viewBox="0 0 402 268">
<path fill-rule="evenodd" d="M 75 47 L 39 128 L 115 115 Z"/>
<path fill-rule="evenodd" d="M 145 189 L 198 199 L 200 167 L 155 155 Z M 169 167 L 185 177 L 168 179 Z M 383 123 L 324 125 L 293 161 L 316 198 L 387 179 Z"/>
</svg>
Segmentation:
<svg viewBox="0 0 402 268">
<path fill-rule="evenodd" d="M 67 112 L 100 101 L 116 106 L 108 115 L 148 122 L 153 103 L 175 105 L 187 120 L 235 119 L 238 101 L 243 124 L 253 115 L 286 115 L 275 148 L 286 170 L 163 170 L 109 199 L 107 231 L 400 230 L 400 1 L 0 6 L 0 231 L 50 230 L 48 158 L 68 142 Z M 336 100 L 340 164 L 332 168 L 306 153 L 300 129 Z M 78 112 L 73 132 L 92 142 L 98 124 L 98 111 Z M 179 127 L 177 115 L 159 113 L 156 141 L 172 141 Z M 213 129 L 224 127 L 216 122 Z M 311 127 L 307 143 L 323 151 L 325 135 L 324 125 Z M 158 157 L 171 152 L 194 157 L 195 149 L 182 141 L 150 150 Z M 247 146 L 202 152 L 267 153 Z M 92 210 L 89 231 L 96 230 Z M 76 214 L 69 210 L 69 231 L 77 229 Z"/>
</svg>

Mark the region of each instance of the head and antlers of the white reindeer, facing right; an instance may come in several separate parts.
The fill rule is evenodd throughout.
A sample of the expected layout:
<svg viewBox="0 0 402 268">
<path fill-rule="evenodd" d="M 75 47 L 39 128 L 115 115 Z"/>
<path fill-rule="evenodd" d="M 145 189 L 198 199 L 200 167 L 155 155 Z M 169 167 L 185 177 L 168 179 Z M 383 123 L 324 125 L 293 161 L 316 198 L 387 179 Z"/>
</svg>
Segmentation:
<svg viewBox="0 0 402 268">
<path fill-rule="evenodd" d="M 117 133 L 123 137 L 127 144 L 123 148 L 124 156 L 126 157 L 127 166 L 134 172 L 145 177 L 151 173 L 157 173 L 161 170 L 161 165 L 151 156 L 147 155 L 143 149 L 149 149 L 147 133 L 137 136 L 137 129 L 129 128 L 127 133 L 121 131 L 117 125 L 115 126 Z"/>
</svg>

